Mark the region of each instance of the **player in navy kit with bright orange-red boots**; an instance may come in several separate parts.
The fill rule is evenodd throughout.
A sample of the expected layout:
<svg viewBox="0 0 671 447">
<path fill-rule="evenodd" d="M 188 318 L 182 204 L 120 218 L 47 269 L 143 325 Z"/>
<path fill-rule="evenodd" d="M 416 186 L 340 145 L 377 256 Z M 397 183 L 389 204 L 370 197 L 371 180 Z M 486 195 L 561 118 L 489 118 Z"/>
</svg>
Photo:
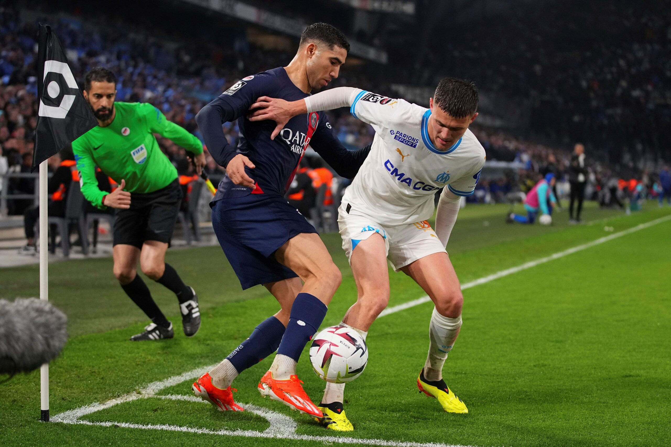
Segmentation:
<svg viewBox="0 0 671 447">
<path fill-rule="evenodd" d="M 296 101 L 327 85 L 338 77 L 349 49 L 335 27 L 309 25 L 287 67 L 243 78 L 196 117 L 210 154 L 226 168 L 211 202 L 217 239 L 242 288 L 263 284 L 281 306 L 193 384 L 197 395 L 221 411 L 242 409 L 234 403 L 233 379 L 277 350 L 258 384 L 260 393 L 316 418 L 323 416 L 303 391 L 296 365 L 323 321 L 341 275 L 314 227 L 284 195 L 308 144 L 346 178 L 356 175 L 370 147 L 348 151 L 323 112 L 297 115 L 276 135 L 273 121 L 252 122 L 246 115 L 258 97 Z M 237 149 L 221 131 L 222 123 L 235 119 L 242 134 Z"/>
</svg>

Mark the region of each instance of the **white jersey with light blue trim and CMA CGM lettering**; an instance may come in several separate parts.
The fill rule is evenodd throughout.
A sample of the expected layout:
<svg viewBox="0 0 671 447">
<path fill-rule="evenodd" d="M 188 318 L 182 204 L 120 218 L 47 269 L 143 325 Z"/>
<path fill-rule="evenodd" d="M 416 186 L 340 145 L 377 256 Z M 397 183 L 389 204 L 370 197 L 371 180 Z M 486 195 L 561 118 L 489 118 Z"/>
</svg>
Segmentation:
<svg viewBox="0 0 671 447">
<path fill-rule="evenodd" d="M 431 111 L 403 99 L 360 91 L 350 112 L 375 129 L 372 148 L 343 201 L 352 214 L 364 214 L 391 227 L 427 220 L 433 196 L 447 187 L 470 196 L 485 153 L 470 130 L 447 151 L 431 143 Z"/>
</svg>

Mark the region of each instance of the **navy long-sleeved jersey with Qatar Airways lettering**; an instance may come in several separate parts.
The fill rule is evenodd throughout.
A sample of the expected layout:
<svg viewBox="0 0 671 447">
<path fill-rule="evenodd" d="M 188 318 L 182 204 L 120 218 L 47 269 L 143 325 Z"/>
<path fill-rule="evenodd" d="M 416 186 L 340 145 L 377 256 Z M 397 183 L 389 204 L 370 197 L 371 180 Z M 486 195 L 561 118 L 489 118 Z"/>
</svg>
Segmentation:
<svg viewBox="0 0 671 447">
<path fill-rule="evenodd" d="M 297 101 L 309 94 L 300 90 L 284 68 L 274 68 L 239 80 L 217 99 L 203 108 L 197 120 L 207 148 L 221 166 L 238 153 L 246 155 L 255 168 L 245 168 L 256 182 L 256 189 L 234 184 L 228 176 L 219 184 L 215 201 L 224 197 L 248 194 L 283 196 L 295 176 L 301 157 L 309 144 L 338 174 L 352 178 L 363 163 L 370 148 L 348 151 L 331 132 L 331 125 L 323 112 L 304 113 L 293 117 L 274 140 L 270 135 L 274 121 L 249 121 L 249 107 L 258 97 Z M 206 110 L 207 109 L 207 110 Z M 206 123 L 205 115 L 216 115 L 213 125 Z M 238 119 L 240 138 L 238 147 L 227 144 L 221 132 L 221 122 Z M 218 124 L 218 129 L 215 126 Z"/>
</svg>

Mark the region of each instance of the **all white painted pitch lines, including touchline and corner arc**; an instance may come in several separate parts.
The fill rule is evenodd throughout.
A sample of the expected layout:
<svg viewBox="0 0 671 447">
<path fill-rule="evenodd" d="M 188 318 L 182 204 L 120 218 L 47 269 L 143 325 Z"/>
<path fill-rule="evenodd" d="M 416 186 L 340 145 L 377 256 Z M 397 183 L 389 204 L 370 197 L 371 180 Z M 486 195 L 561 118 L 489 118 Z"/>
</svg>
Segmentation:
<svg viewBox="0 0 671 447">
<path fill-rule="evenodd" d="M 468 283 L 462 284 L 461 288 L 462 290 L 464 290 L 475 287 L 476 285 L 488 283 L 490 281 L 494 281 L 495 279 L 499 279 L 507 275 L 512 275 L 513 273 L 517 273 L 518 271 L 529 269 L 531 267 L 535 267 L 536 265 L 546 263 L 554 259 L 559 259 L 560 257 L 568 256 L 572 253 L 576 253 L 576 251 L 588 249 L 590 247 L 594 247 L 595 245 L 612 241 L 613 239 L 617 239 L 618 237 L 629 235 L 630 233 L 634 233 L 635 231 L 652 227 L 653 225 L 657 225 L 658 223 L 661 222 L 666 222 L 667 220 L 671 220 L 671 215 L 651 220 L 650 222 L 637 225 L 636 227 L 632 227 L 625 231 L 620 231 L 619 233 L 613 233 L 612 235 L 601 237 L 599 239 L 596 239 L 595 241 L 586 244 L 577 245 L 576 247 L 572 247 L 568 250 L 560 251 L 559 253 L 554 253 L 554 255 L 542 257 L 540 259 L 535 259 L 534 261 L 523 263 L 521 265 L 518 265 L 517 267 L 511 267 L 509 269 L 498 271 L 497 273 L 493 273 L 480 279 L 476 279 L 475 281 L 470 281 Z M 378 316 L 378 318 L 381 316 L 394 314 L 396 312 L 400 312 L 401 310 L 412 308 L 414 306 L 419 306 L 419 304 L 423 304 L 429 301 L 431 301 L 431 299 L 428 296 L 424 296 L 422 298 L 418 298 L 417 300 L 412 300 L 404 304 L 399 304 L 398 306 L 393 306 L 391 308 L 384 310 L 380 314 L 380 316 Z M 173 426 L 169 424 L 130 424 L 127 422 L 92 422 L 80 419 L 83 416 L 86 416 L 87 414 L 95 413 L 96 411 L 113 407 L 114 405 L 118 405 L 119 403 L 130 402 L 136 399 L 156 398 L 156 399 L 172 399 L 172 400 L 184 400 L 184 401 L 202 401 L 198 397 L 191 395 L 176 395 L 176 394 L 158 395 L 157 393 L 164 388 L 171 387 L 173 385 L 177 385 L 178 383 L 182 383 L 188 380 L 196 379 L 197 377 L 203 375 L 205 371 L 209 371 L 213 367 L 215 367 L 215 365 L 193 369 L 180 375 L 168 377 L 168 379 L 162 381 L 152 382 L 149 385 L 146 385 L 146 387 L 140 389 L 140 391 L 134 391 L 132 393 L 125 394 L 121 397 L 115 397 L 114 399 L 109 399 L 108 401 L 105 401 L 103 403 L 92 403 L 91 405 L 85 405 L 83 407 L 64 411 L 63 413 L 54 416 L 52 418 L 52 422 L 61 422 L 63 424 L 83 424 L 89 426 L 105 426 L 105 427 L 119 426 L 124 428 L 139 428 L 144 430 L 168 430 L 172 432 L 216 434 L 223 436 L 244 436 L 248 438 L 275 438 L 275 439 L 305 440 L 305 441 L 318 441 L 318 442 L 329 442 L 329 443 L 335 442 L 338 444 L 364 444 L 370 446 L 468 447 L 468 446 L 457 446 L 453 444 L 441 444 L 433 442 L 431 443 L 397 442 L 382 439 L 348 438 L 344 436 L 311 436 L 311 435 L 297 434 L 296 428 L 298 424 L 295 420 L 293 420 L 293 418 L 285 416 L 281 413 L 276 413 L 275 411 L 272 411 L 270 409 L 258 407 L 256 405 L 252 405 L 249 403 L 244 405 L 244 409 L 246 409 L 246 411 L 250 411 L 250 413 L 254 413 L 258 416 L 261 416 L 262 418 L 265 418 L 270 424 L 270 427 L 264 430 L 263 432 L 256 432 L 254 430 L 209 430 L 207 428 L 182 427 L 182 426 Z"/>
</svg>

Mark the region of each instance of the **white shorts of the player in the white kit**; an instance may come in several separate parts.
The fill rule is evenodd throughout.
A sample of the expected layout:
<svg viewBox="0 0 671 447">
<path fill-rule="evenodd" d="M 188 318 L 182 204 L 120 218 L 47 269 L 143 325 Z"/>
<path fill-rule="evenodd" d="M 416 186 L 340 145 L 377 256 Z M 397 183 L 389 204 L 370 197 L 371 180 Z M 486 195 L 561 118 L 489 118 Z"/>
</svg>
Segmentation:
<svg viewBox="0 0 671 447">
<path fill-rule="evenodd" d="M 384 227 L 374 218 L 354 209 L 348 213 L 346 207 L 343 202 L 338 209 L 338 227 L 348 259 L 351 259 L 358 243 L 375 233 L 384 238 L 386 257 L 395 271 L 433 253 L 445 253 L 445 247 L 426 220 L 399 227 Z"/>
</svg>

